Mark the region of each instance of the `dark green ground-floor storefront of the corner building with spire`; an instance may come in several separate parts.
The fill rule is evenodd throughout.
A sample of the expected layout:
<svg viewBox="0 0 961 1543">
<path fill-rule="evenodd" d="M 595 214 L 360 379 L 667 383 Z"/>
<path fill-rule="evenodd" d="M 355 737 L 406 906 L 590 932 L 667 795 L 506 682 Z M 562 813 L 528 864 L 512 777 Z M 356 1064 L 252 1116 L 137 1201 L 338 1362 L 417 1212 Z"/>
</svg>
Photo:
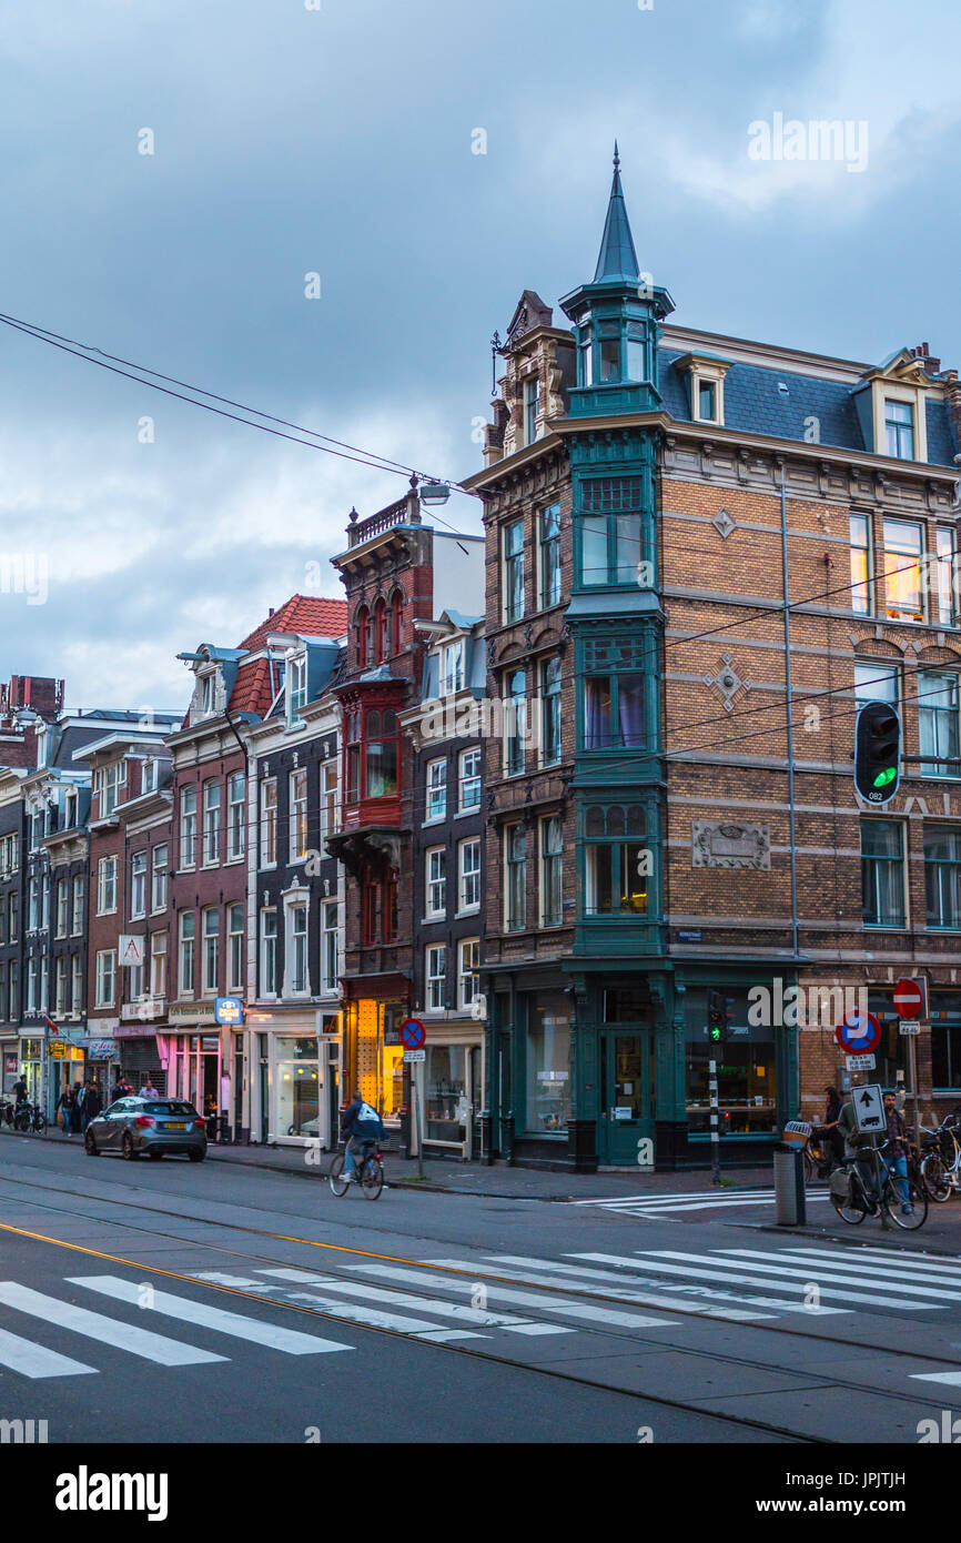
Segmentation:
<svg viewBox="0 0 961 1543">
<path fill-rule="evenodd" d="M 770 971 L 770 966 L 768 966 Z M 532 972 L 531 972 L 532 974 Z M 669 1170 L 710 1162 L 710 1062 L 725 1159 L 757 1160 L 797 1108 L 797 1029 L 753 1021 L 748 991 L 776 1000 L 750 964 L 691 963 L 631 974 L 494 974 L 487 1037 L 492 1143 L 537 1167 Z M 722 1028 L 710 1038 L 708 994 Z M 760 1014 L 764 1018 L 764 1014 Z"/>
</svg>

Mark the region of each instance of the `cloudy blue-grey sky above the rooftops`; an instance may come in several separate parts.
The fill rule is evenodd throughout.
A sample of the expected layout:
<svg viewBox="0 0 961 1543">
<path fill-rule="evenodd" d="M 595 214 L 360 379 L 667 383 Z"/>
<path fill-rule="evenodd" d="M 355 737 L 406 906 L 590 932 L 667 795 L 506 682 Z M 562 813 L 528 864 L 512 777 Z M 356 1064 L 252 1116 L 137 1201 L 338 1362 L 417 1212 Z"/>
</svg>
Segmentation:
<svg viewBox="0 0 961 1543">
<path fill-rule="evenodd" d="M 959 43 L 939 0 L 8 6 L 0 312 L 464 477 L 489 338 L 592 276 L 617 137 L 676 321 L 961 366 Z M 867 123 L 867 165 L 751 159 L 777 113 Z M 179 708 L 177 651 L 403 491 L 0 326 L 0 677 Z"/>
</svg>

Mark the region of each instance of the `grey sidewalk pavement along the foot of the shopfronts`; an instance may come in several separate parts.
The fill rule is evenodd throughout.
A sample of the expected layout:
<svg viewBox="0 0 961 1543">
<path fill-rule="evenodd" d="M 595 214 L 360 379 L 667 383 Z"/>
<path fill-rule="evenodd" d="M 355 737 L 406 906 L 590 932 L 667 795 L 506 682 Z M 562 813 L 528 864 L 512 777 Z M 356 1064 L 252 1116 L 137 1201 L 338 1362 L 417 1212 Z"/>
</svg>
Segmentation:
<svg viewBox="0 0 961 1543">
<path fill-rule="evenodd" d="M 216 1142 L 207 1148 L 207 1157 L 217 1162 L 245 1163 L 250 1168 L 267 1168 L 275 1173 L 301 1174 L 307 1179 L 325 1174 L 333 1153 L 318 1153 L 302 1146 L 221 1146 Z M 386 1148 L 384 1168 L 387 1183 L 410 1190 L 441 1191 L 447 1194 L 478 1194 L 498 1200 L 594 1200 L 625 1199 L 629 1194 L 688 1194 L 711 1188 L 708 1170 L 685 1173 L 554 1173 L 538 1168 L 511 1168 L 497 1162 L 491 1168 L 478 1162 L 444 1162 L 440 1157 L 424 1159 L 424 1177 L 418 1177 L 416 1160 L 396 1156 Z M 725 1187 L 745 1188 L 770 1185 L 770 1168 L 737 1170 L 737 1177 L 725 1177 Z"/>
</svg>

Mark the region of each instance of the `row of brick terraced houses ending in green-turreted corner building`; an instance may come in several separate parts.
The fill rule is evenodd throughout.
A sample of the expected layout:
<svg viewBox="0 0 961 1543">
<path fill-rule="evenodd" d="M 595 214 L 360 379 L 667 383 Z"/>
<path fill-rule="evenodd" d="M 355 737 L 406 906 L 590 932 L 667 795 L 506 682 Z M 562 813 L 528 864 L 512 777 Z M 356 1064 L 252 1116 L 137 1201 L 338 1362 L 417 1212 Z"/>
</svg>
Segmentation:
<svg viewBox="0 0 961 1543">
<path fill-rule="evenodd" d="M 416 478 L 352 511 L 341 597 L 185 651 L 185 713 L 3 688 L 5 1088 L 120 1068 L 330 1146 L 359 1086 L 412 1150 L 413 1015 L 427 1153 L 700 1163 L 713 1054 L 736 1162 L 850 1077 L 851 1001 L 907 1074 L 922 975 L 924 1108 L 961 1097 L 956 370 L 671 322 L 617 164 L 558 307 L 523 290 L 498 344 L 483 535 Z M 882 809 L 872 699 L 910 758 Z"/>
</svg>

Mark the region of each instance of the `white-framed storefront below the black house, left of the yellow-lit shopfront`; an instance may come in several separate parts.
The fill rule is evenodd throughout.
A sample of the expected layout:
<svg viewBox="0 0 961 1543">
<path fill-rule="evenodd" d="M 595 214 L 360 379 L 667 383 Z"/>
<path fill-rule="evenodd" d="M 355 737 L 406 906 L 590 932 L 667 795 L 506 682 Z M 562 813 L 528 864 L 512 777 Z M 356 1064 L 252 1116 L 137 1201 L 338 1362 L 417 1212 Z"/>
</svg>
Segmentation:
<svg viewBox="0 0 961 1543">
<path fill-rule="evenodd" d="M 339 1133 L 339 1018 L 316 1008 L 247 1012 L 251 1140 L 322 1151 Z"/>
</svg>

